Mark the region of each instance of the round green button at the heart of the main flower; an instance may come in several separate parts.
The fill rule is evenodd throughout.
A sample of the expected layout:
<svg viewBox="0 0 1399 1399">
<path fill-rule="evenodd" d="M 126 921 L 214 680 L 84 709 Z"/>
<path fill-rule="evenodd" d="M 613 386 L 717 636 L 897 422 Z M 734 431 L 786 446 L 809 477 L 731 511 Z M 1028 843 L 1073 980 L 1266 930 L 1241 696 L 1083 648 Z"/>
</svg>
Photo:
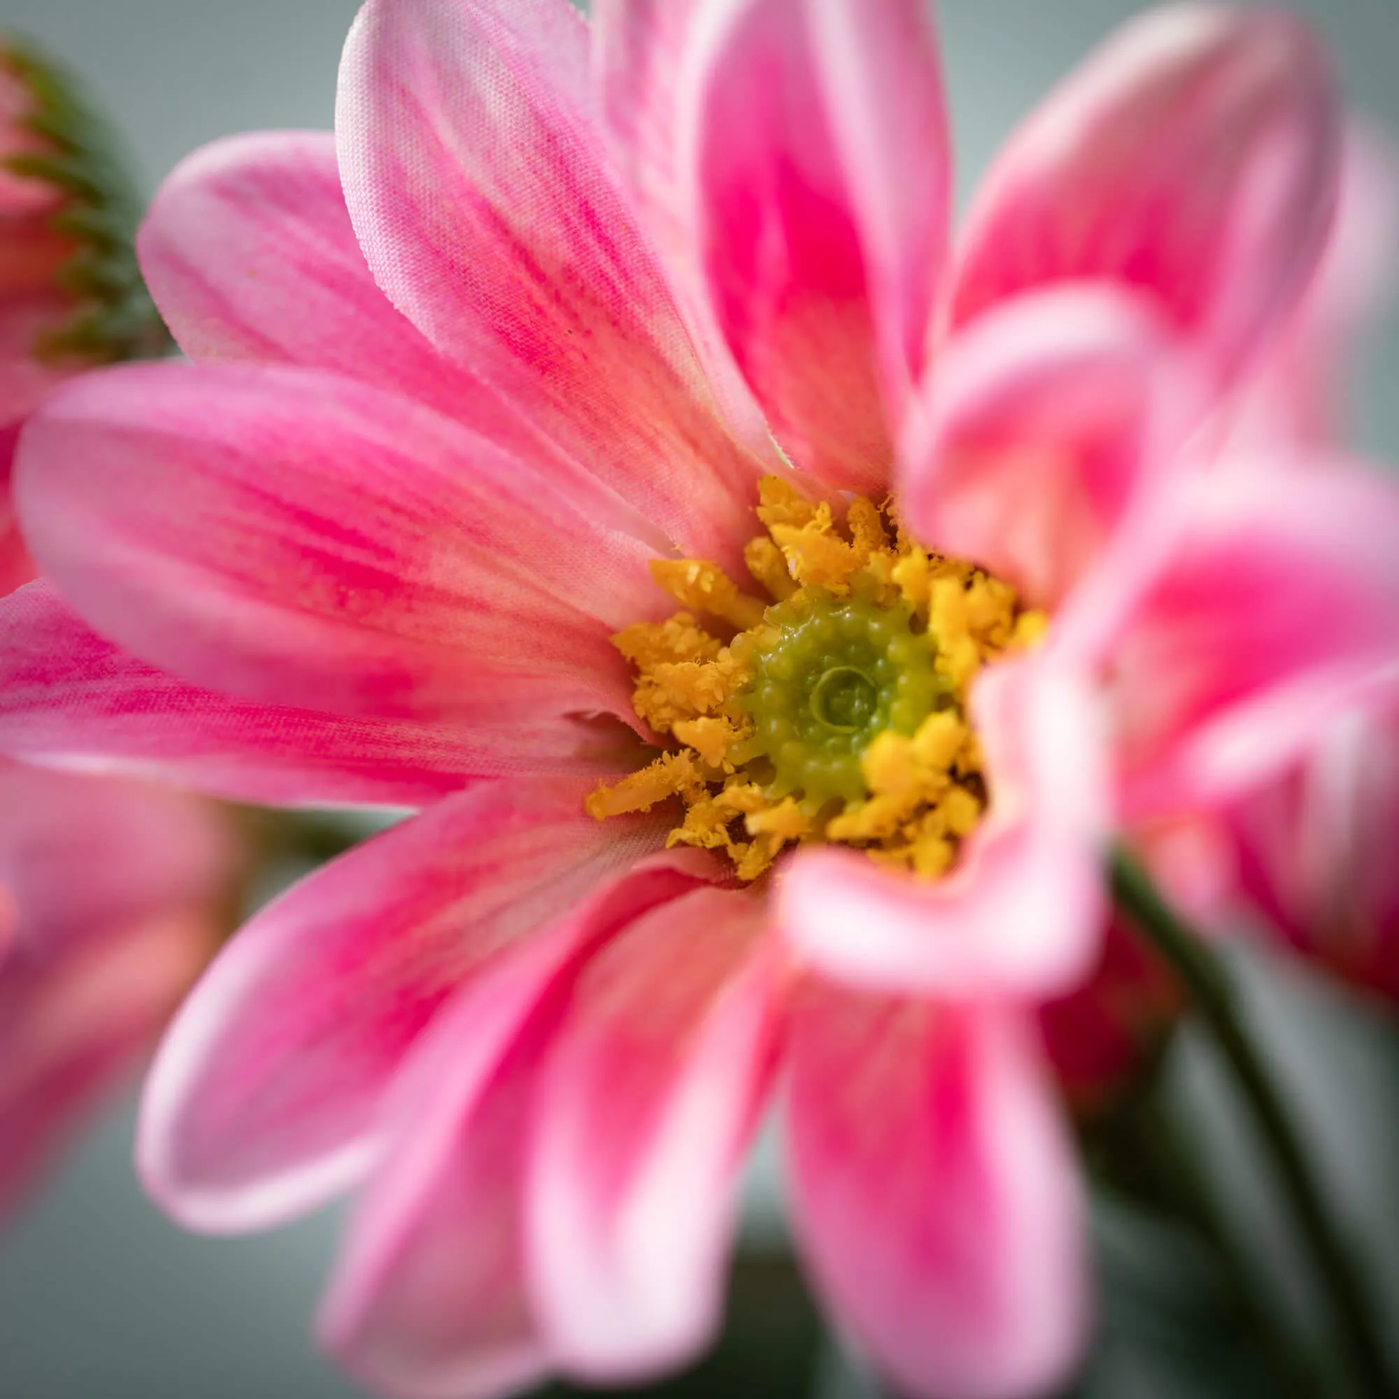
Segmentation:
<svg viewBox="0 0 1399 1399">
<path fill-rule="evenodd" d="M 817 590 L 769 607 L 765 621 L 750 634 L 753 680 L 739 695 L 754 730 L 744 755 L 772 769 L 764 792 L 800 796 L 813 811 L 863 800 L 860 755 L 874 737 L 912 734 L 950 702 L 933 667 L 936 639 L 914 630 L 907 604 Z"/>
</svg>

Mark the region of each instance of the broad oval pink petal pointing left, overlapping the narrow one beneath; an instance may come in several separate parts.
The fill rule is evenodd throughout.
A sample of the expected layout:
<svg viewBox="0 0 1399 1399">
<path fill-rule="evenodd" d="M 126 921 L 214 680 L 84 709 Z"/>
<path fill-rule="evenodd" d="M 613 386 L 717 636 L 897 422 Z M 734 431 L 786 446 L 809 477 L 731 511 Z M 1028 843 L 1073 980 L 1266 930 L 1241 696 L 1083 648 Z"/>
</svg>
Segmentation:
<svg viewBox="0 0 1399 1399">
<path fill-rule="evenodd" d="M 143 660 L 337 713 L 631 716 L 607 641 L 651 551 L 484 438 L 297 368 L 136 365 L 31 420 L 15 499 L 41 568 Z"/>
</svg>

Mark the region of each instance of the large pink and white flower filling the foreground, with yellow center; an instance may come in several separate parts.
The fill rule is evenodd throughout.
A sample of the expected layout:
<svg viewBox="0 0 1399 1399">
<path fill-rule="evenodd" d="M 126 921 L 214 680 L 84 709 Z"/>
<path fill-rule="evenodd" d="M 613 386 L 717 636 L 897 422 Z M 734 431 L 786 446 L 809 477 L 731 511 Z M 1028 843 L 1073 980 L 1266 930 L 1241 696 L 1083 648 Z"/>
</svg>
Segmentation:
<svg viewBox="0 0 1399 1399">
<path fill-rule="evenodd" d="M 1130 27 L 1016 136 L 951 257 L 921 0 L 610 0 L 592 34 L 564 0 L 371 0 L 339 126 L 172 176 L 141 255 L 196 362 L 66 386 L 17 469 L 52 582 L 3 607 L 0 744 L 425 807 L 186 1002 L 151 1191 L 236 1231 L 358 1188 L 322 1326 L 386 1392 L 628 1378 L 712 1333 L 781 1074 L 839 1325 L 909 1395 L 1048 1391 L 1088 1308 L 1037 1016 L 1097 964 L 1112 818 L 1262 781 L 1399 644 L 1388 485 L 1198 460 L 1328 231 L 1315 45 L 1202 6 Z M 786 485 L 754 546 L 764 473 Z M 943 572 L 842 494 L 890 487 Z M 673 607 L 652 564 L 737 574 L 746 544 L 870 646 L 911 609 L 900 676 L 928 679 L 921 646 L 947 694 L 982 667 L 916 734 L 817 747 L 823 781 L 865 783 L 845 838 L 946 877 L 811 844 L 740 887 L 667 851 L 673 810 L 624 810 L 711 743 L 751 775 L 737 711 L 666 716 L 681 677 L 645 625 Z M 713 569 L 658 574 L 792 660 Z M 837 618 L 818 575 L 870 592 Z M 609 637 L 637 625 L 634 706 Z M 683 645 L 719 667 L 676 662 L 695 684 L 757 665 Z M 827 729 L 894 704 L 852 672 L 800 670 Z M 754 734 L 795 704 L 769 679 L 727 695 Z M 673 765 L 624 778 L 672 719 Z M 720 778 L 680 834 L 740 872 L 825 820 Z M 720 797 L 754 804 L 705 825 Z"/>
</svg>

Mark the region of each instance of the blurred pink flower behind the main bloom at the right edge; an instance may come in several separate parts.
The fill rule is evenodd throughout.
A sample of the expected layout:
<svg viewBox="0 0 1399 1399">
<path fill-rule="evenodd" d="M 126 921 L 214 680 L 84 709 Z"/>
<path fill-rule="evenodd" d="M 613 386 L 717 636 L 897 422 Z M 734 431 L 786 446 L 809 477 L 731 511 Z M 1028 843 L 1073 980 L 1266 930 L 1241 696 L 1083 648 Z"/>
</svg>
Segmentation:
<svg viewBox="0 0 1399 1399">
<path fill-rule="evenodd" d="M 1392 291 L 1399 211 L 1395 152 L 1351 136 L 1328 252 L 1300 311 L 1234 420 L 1287 469 L 1325 466 L 1346 435 L 1343 369 Z M 1308 449 L 1319 449 L 1308 452 Z M 1276 781 L 1199 823 L 1199 858 L 1163 867 L 1214 921 L 1262 915 L 1305 957 L 1399 999 L 1399 705 L 1395 683 L 1318 723 Z M 1203 873 L 1203 880 L 1202 880 Z M 1184 883 L 1182 883 L 1184 881 Z"/>
</svg>

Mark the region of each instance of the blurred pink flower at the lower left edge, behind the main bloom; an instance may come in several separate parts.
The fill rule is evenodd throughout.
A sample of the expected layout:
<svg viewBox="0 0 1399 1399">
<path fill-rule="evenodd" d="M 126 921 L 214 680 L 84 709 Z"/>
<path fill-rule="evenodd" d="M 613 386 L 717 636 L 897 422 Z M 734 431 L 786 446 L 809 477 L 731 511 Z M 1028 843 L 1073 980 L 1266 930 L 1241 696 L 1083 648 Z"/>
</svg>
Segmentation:
<svg viewBox="0 0 1399 1399">
<path fill-rule="evenodd" d="M 0 1217 L 155 1044 L 234 860 L 213 803 L 0 761 Z"/>
</svg>

